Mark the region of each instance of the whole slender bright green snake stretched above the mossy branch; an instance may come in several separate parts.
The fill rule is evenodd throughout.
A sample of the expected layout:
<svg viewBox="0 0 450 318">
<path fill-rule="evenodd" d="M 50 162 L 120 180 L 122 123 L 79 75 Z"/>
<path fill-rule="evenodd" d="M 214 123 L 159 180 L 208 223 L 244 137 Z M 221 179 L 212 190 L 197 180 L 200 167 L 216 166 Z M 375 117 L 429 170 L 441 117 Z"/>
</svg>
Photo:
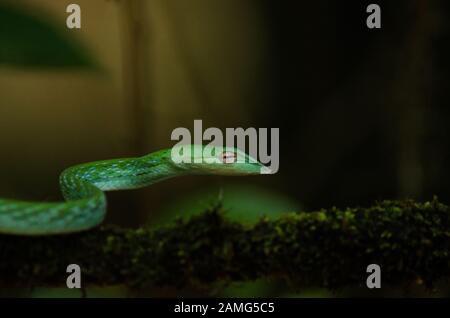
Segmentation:
<svg viewBox="0 0 450 318">
<path fill-rule="evenodd" d="M 66 201 L 0 199 L 0 233 L 54 235 L 91 229 L 99 225 L 106 215 L 104 191 L 137 189 L 171 177 L 192 174 L 267 173 L 263 172 L 267 169 L 264 165 L 237 148 L 216 147 L 205 151 L 202 145 L 187 146 L 164 149 L 138 158 L 69 167 L 60 176 L 60 188 Z M 174 154 L 178 156 L 176 160 Z"/>
</svg>

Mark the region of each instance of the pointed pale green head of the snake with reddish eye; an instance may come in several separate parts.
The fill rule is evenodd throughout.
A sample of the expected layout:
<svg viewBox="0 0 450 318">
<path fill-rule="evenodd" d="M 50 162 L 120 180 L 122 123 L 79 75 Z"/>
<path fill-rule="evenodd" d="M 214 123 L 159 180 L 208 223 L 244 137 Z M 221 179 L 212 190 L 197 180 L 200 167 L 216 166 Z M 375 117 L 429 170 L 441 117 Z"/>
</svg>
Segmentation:
<svg viewBox="0 0 450 318">
<path fill-rule="evenodd" d="M 171 159 L 185 171 L 195 174 L 254 175 L 267 174 L 270 169 L 235 147 L 177 145 Z"/>
</svg>

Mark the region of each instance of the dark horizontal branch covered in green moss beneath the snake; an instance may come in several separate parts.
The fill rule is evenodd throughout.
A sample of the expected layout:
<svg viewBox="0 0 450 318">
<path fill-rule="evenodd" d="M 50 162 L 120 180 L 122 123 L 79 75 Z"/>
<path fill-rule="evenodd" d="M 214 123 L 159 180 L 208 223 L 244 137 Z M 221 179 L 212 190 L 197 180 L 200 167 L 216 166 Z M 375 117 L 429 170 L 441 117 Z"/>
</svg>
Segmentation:
<svg viewBox="0 0 450 318">
<path fill-rule="evenodd" d="M 369 208 L 289 213 L 252 226 L 211 209 L 154 229 L 100 227 L 53 237 L 0 236 L 0 287 L 65 286 L 68 264 L 83 284 L 211 286 L 261 277 L 294 287 L 365 284 L 367 265 L 384 284 L 427 286 L 450 274 L 450 208 L 384 201 Z"/>
</svg>

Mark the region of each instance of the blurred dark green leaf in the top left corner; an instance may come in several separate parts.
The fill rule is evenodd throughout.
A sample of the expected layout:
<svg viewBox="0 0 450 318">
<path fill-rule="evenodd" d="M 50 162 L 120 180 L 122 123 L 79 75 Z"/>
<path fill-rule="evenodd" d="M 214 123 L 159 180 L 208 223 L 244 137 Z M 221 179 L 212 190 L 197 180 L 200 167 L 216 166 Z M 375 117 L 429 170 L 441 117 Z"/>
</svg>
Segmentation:
<svg viewBox="0 0 450 318">
<path fill-rule="evenodd" d="M 0 4 L 0 65 L 33 68 L 94 67 L 87 50 L 66 30 L 25 9 Z"/>
</svg>

